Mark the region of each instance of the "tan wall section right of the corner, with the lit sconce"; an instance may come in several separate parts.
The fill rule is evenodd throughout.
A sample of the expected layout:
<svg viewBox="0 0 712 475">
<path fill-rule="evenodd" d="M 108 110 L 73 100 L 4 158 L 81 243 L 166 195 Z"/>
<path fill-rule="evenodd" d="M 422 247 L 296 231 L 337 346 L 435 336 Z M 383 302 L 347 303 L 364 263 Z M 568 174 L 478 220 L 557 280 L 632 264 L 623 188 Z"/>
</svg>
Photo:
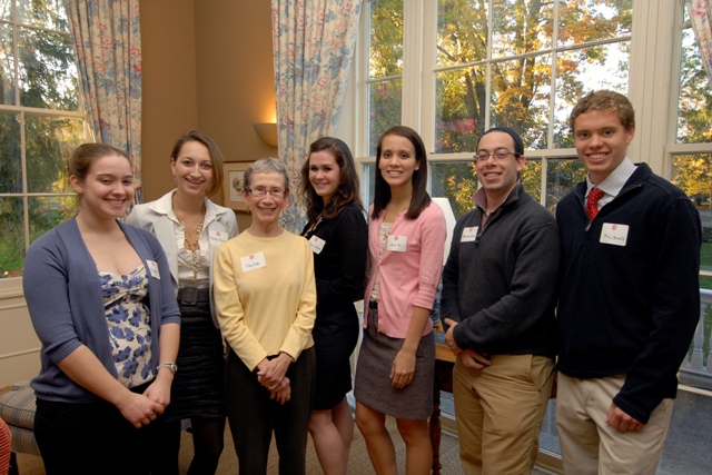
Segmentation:
<svg viewBox="0 0 712 475">
<path fill-rule="evenodd" d="M 274 121 L 276 113 L 270 14 L 265 0 L 211 0 L 196 8 L 198 126 L 226 161 L 277 156 L 253 127 Z M 237 214 L 240 229 L 250 220 Z"/>
</svg>

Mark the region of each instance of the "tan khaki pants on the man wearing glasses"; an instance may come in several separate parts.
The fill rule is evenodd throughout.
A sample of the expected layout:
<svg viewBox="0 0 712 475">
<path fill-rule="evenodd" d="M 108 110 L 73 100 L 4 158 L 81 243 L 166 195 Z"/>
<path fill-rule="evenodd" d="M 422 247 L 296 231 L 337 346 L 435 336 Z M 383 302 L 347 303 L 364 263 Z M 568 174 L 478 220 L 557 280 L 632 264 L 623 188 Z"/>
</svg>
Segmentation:
<svg viewBox="0 0 712 475">
<path fill-rule="evenodd" d="M 495 355 L 492 365 L 453 372 L 459 458 L 467 475 L 528 475 L 551 394 L 554 360 Z"/>
</svg>

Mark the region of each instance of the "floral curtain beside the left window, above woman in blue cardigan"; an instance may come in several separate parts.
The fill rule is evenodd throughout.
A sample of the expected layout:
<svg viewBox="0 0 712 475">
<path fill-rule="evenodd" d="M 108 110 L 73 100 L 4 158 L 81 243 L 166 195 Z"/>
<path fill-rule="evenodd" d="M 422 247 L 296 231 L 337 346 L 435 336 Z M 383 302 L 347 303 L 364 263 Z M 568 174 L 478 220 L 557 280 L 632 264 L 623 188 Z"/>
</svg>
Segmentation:
<svg viewBox="0 0 712 475">
<path fill-rule="evenodd" d="M 123 150 L 141 192 L 141 32 L 138 0 L 66 0 L 95 140 Z"/>
</svg>

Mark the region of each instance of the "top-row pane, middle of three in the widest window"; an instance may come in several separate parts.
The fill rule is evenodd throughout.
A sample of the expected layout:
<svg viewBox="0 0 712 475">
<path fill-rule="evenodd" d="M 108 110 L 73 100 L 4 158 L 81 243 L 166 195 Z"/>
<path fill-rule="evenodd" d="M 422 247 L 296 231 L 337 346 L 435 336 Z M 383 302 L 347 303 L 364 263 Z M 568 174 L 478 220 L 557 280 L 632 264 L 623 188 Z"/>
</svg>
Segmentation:
<svg viewBox="0 0 712 475">
<path fill-rule="evenodd" d="M 497 0 L 492 18 L 493 58 L 552 47 L 554 2 Z"/>
</svg>

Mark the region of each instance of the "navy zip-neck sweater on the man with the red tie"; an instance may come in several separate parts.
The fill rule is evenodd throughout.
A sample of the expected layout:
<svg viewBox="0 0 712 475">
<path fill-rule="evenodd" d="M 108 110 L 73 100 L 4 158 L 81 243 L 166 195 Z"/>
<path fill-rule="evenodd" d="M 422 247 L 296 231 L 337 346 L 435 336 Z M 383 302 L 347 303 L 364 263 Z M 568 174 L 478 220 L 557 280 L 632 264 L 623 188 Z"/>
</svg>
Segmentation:
<svg viewBox="0 0 712 475">
<path fill-rule="evenodd" d="M 700 318 L 700 215 L 645 164 L 591 224 L 585 192 L 584 181 L 556 208 L 558 369 L 576 378 L 625 375 L 613 402 L 645 424 L 663 398 L 675 397 Z M 601 243 L 612 225 L 629 227 L 624 246 Z"/>
</svg>

